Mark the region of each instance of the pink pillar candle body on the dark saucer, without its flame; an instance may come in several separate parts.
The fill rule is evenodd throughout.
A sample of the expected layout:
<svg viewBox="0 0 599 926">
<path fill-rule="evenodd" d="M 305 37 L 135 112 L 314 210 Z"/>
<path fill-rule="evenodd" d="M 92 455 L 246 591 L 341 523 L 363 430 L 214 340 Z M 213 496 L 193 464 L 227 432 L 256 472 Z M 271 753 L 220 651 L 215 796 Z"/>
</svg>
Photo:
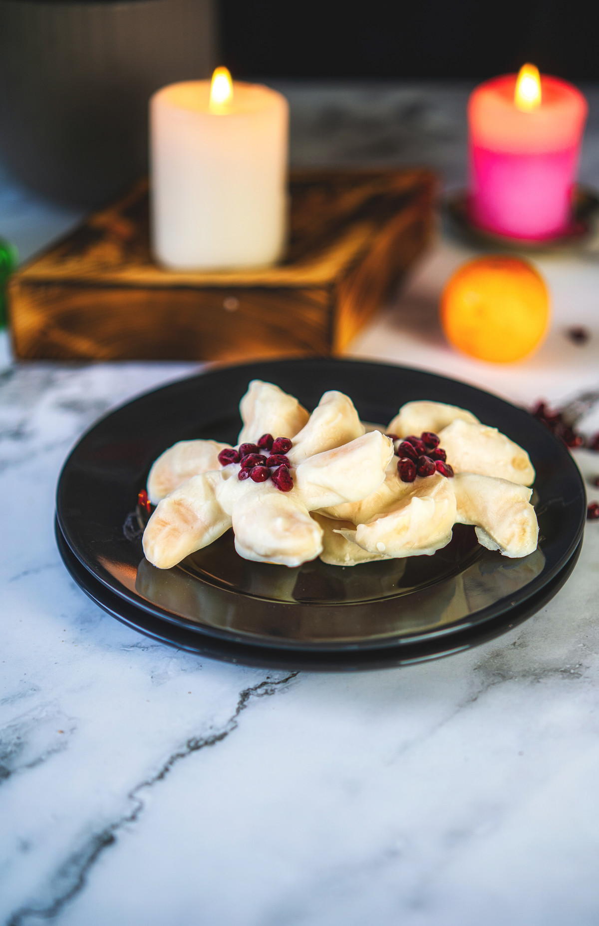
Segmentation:
<svg viewBox="0 0 599 926">
<path fill-rule="evenodd" d="M 543 241 L 568 231 L 582 131 L 583 95 L 541 78 L 541 103 L 514 102 L 516 74 L 485 81 L 471 94 L 471 219 L 489 232 Z"/>
</svg>

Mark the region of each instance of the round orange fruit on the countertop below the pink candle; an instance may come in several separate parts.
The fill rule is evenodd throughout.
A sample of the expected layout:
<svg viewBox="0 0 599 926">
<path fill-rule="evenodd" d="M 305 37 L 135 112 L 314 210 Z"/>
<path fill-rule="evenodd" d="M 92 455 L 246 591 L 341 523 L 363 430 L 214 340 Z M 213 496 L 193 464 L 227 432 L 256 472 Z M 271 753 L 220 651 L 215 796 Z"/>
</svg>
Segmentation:
<svg viewBox="0 0 599 926">
<path fill-rule="evenodd" d="M 543 277 L 520 257 L 477 257 L 441 295 L 447 341 L 481 360 L 510 363 L 541 344 L 549 321 Z"/>
</svg>

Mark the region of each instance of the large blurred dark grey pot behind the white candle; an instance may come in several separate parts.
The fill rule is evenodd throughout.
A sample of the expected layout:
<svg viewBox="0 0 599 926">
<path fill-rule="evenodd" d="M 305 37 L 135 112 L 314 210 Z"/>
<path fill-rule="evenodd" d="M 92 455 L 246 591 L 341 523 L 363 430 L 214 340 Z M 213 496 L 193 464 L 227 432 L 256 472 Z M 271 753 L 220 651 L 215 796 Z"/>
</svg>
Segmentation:
<svg viewBox="0 0 599 926">
<path fill-rule="evenodd" d="M 214 0 L 0 0 L 0 159 L 93 206 L 147 169 L 148 100 L 214 68 Z"/>
</svg>

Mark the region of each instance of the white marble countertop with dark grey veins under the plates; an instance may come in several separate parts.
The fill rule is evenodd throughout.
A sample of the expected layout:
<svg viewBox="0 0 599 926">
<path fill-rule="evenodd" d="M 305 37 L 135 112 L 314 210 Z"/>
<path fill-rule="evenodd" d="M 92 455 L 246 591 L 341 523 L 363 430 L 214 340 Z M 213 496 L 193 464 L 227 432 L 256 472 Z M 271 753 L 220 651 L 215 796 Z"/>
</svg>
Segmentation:
<svg viewBox="0 0 599 926">
<path fill-rule="evenodd" d="M 468 88 L 286 89 L 296 163 L 422 161 L 463 182 Z M 590 99 L 582 178 L 599 186 L 599 92 Z M 0 175 L 0 235 L 24 257 L 77 219 Z M 593 247 L 538 261 L 553 329 L 510 368 L 458 357 L 438 330 L 440 286 L 471 253 L 441 228 L 350 353 L 525 404 L 599 385 Z M 568 339 L 574 324 L 587 344 Z M 94 419 L 196 369 L 0 373 L 2 923 L 594 926 L 599 521 L 547 607 L 438 662 L 298 674 L 154 644 L 70 580 L 55 482 Z M 599 416 L 585 426 L 599 430 Z M 599 455 L 576 457 L 599 475 Z"/>
</svg>

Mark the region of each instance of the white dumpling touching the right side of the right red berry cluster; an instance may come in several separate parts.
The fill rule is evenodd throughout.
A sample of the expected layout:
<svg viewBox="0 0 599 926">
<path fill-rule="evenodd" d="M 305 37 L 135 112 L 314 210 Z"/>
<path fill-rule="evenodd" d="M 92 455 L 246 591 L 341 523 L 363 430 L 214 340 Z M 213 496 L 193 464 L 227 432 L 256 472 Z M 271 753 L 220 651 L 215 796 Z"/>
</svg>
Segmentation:
<svg viewBox="0 0 599 926">
<path fill-rule="evenodd" d="M 476 472 L 520 485 L 534 482 L 529 455 L 496 428 L 455 420 L 439 432 L 439 440 L 455 472 Z"/>
</svg>

